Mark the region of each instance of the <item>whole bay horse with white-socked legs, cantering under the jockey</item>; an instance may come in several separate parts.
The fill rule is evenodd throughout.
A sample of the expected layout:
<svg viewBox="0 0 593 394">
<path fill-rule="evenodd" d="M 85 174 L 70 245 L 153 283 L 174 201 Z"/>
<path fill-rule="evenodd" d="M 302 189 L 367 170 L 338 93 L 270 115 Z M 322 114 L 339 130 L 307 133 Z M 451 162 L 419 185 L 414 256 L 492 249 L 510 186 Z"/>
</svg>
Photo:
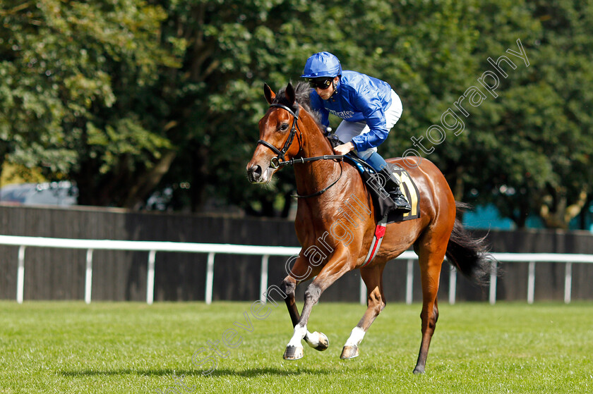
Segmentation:
<svg viewBox="0 0 593 394">
<path fill-rule="evenodd" d="M 359 170 L 340 160 L 342 156 L 334 155 L 316 113 L 309 106 L 309 92 L 309 85 L 304 82 L 296 90 L 289 83 L 278 94 L 264 85 L 270 108 L 259 121 L 260 140 L 247 164 L 251 183 L 268 183 L 282 166 L 294 165 L 296 192 L 301 197 L 294 222 L 301 252 L 281 285 L 294 327 L 283 357 L 303 357 L 303 339 L 316 350 L 328 348 L 326 335 L 307 329 L 311 309 L 321 293 L 338 278 L 360 269 L 367 289 L 367 309 L 347 339 L 340 358 L 357 357 L 364 334 L 385 308 L 385 264 L 413 246 L 419 257 L 422 284 L 422 339 L 414 374 L 424 373 L 438 319 L 437 291 L 445 254 L 465 276 L 485 283 L 490 261 L 484 240 L 472 238 L 456 219 L 453 193 L 434 164 L 420 157 L 388 159 L 405 168 L 416 183 L 420 215 L 388 224 L 380 250 L 364 266 L 376 230 L 371 194 Z M 345 207 L 359 209 L 354 212 Z M 294 290 L 296 285 L 311 278 L 314 279 L 306 289 L 299 314 Z"/>
</svg>

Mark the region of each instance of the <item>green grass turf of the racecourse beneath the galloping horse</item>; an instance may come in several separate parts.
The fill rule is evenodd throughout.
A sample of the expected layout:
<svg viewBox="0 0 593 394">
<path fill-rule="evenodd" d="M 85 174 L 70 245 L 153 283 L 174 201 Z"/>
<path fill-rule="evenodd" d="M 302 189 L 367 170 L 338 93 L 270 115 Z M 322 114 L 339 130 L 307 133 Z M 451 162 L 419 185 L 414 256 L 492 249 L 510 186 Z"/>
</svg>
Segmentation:
<svg viewBox="0 0 593 394">
<path fill-rule="evenodd" d="M 246 302 L 2 301 L 0 393 L 593 393 L 592 303 L 443 303 L 426 374 L 416 376 L 420 309 L 388 304 L 361 355 L 340 360 L 364 307 L 321 302 L 309 331 L 328 335 L 330 348 L 305 345 L 289 362 L 283 303 L 257 320 Z M 244 312 L 252 332 L 234 326 L 246 324 Z M 230 328 L 242 342 L 221 341 L 227 358 L 203 376 L 193 353 Z"/>
</svg>

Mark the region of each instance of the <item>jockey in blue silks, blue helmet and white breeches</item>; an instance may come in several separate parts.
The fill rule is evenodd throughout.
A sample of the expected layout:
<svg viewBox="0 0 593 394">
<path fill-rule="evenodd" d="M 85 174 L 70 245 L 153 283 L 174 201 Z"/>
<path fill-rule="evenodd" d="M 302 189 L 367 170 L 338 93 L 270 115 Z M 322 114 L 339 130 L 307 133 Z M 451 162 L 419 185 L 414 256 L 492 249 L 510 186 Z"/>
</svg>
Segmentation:
<svg viewBox="0 0 593 394">
<path fill-rule="evenodd" d="M 377 147 L 402 115 L 402 101 L 387 82 L 356 71 L 344 70 L 336 56 L 319 52 L 307 59 L 303 75 L 311 85 L 311 107 L 321 113 L 321 123 L 329 126 L 329 113 L 342 118 L 335 130 L 342 144 L 336 154 L 354 151 L 385 180 L 395 207 L 410 211 L 400 190 L 400 182 L 387 167 Z"/>
</svg>

